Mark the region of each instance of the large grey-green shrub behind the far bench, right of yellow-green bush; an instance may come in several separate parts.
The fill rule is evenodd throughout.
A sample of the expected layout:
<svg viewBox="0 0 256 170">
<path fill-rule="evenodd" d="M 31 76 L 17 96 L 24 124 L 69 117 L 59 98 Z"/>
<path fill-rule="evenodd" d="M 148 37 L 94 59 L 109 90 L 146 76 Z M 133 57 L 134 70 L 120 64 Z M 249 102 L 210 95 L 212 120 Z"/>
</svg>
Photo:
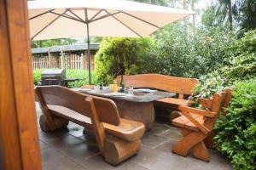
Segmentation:
<svg viewBox="0 0 256 170">
<path fill-rule="evenodd" d="M 221 27 L 198 28 L 195 35 L 188 23 L 177 22 L 154 34 L 156 47 L 150 50 L 147 72 L 175 77 L 200 77 L 224 65 L 234 38 Z M 154 61 L 154 62 L 152 62 Z"/>
</svg>

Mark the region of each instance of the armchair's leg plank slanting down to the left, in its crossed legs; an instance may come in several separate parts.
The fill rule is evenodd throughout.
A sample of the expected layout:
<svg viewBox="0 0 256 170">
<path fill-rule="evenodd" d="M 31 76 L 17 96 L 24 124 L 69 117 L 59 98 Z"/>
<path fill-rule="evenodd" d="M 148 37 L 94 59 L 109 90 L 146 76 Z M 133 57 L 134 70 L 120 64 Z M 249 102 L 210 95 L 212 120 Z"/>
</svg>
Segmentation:
<svg viewBox="0 0 256 170">
<path fill-rule="evenodd" d="M 200 132 L 194 132 L 189 129 L 181 128 L 183 139 L 172 147 L 172 152 L 181 156 L 187 156 L 189 150 L 196 144 L 206 138 L 206 135 Z"/>
</svg>

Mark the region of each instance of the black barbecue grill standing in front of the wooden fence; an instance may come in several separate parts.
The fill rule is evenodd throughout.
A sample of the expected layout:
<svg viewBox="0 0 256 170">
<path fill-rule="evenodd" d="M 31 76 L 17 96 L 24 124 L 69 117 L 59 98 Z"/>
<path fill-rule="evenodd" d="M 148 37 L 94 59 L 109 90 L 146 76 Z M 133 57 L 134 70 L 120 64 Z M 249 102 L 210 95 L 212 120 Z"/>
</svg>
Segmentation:
<svg viewBox="0 0 256 170">
<path fill-rule="evenodd" d="M 60 85 L 66 86 L 66 70 L 55 69 L 55 70 L 44 70 L 41 73 L 41 85 Z"/>
</svg>

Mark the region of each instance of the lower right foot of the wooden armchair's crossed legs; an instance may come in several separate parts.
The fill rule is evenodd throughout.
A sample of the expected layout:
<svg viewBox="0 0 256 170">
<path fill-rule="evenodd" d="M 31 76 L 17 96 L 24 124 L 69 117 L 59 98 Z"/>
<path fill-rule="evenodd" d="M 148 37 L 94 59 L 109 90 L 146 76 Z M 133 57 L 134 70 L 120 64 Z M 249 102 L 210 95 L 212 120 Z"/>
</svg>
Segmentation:
<svg viewBox="0 0 256 170">
<path fill-rule="evenodd" d="M 193 156 L 202 161 L 210 161 L 209 152 L 206 145 L 201 141 L 191 149 Z"/>
</svg>

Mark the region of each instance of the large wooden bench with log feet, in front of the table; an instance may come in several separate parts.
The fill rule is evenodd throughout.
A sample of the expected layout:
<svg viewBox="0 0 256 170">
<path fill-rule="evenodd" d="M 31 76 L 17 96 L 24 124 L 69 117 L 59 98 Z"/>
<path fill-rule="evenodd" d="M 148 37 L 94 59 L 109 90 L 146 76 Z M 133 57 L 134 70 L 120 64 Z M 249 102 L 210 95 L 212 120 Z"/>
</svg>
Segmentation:
<svg viewBox="0 0 256 170">
<path fill-rule="evenodd" d="M 39 123 L 44 132 L 67 127 L 69 121 L 93 129 L 102 156 L 112 165 L 140 149 L 145 131 L 143 123 L 119 118 L 113 100 L 61 86 L 37 87 L 36 94 L 43 111 Z"/>
</svg>

